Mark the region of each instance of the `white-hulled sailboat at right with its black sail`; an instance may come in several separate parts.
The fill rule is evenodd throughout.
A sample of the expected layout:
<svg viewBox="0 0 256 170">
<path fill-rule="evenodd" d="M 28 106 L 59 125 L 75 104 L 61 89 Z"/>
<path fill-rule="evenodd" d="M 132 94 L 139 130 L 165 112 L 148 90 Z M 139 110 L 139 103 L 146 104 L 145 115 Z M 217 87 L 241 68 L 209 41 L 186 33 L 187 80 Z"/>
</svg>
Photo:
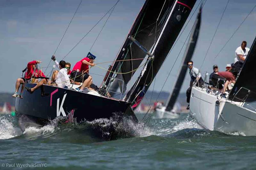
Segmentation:
<svg viewBox="0 0 256 170">
<path fill-rule="evenodd" d="M 255 62 L 256 37 L 227 98 L 209 90 L 207 84 L 192 87 L 190 113 L 198 124 L 209 130 L 256 136 Z"/>
</svg>

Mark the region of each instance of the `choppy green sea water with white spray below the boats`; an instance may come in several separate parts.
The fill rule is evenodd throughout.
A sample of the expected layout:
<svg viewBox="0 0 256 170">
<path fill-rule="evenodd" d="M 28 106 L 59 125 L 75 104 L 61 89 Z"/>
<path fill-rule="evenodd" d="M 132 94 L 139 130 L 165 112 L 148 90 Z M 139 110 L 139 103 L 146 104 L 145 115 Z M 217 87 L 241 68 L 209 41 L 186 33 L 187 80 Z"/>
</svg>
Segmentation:
<svg viewBox="0 0 256 170">
<path fill-rule="evenodd" d="M 256 137 L 208 131 L 187 114 L 147 124 L 126 120 L 115 127 L 122 131 L 115 140 L 92 134 L 100 128 L 111 135 L 113 121 L 51 122 L 22 132 L 15 117 L 0 115 L 0 169 L 256 169 Z"/>
</svg>

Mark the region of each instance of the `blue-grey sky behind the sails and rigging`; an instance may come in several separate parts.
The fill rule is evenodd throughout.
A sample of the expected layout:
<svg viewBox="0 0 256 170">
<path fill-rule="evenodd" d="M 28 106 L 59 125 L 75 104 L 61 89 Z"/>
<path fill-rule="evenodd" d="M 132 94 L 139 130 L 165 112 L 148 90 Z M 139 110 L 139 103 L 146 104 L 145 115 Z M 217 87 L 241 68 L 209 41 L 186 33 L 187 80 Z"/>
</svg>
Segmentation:
<svg viewBox="0 0 256 170">
<path fill-rule="evenodd" d="M 92 54 L 97 56 L 95 63 L 115 59 L 144 2 L 144 0 L 121 0 L 118 2 L 98 40 L 90 50 Z M 200 2 L 200 0 L 197 0 L 188 19 Z M 227 2 L 227 0 L 207 0 L 202 11 L 201 30 L 192 60 L 194 66 L 200 68 L 203 76 L 206 71 L 212 72 L 214 64 L 219 66 L 220 71 L 225 71 L 226 64 L 234 62 L 235 50 L 241 42 L 247 41 L 247 47 L 250 48 L 256 36 L 256 8 L 254 8 L 216 57 L 220 49 L 256 5 L 255 0 L 230 0 L 209 48 Z M 28 62 L 40 60 L 42 61 L 41 67 L 48 65 L 79 3 L 80 0 L 0 0 L 0 92 L 15 91 L 16 79 L 20 78 L 21 70 L 26 67 Z M 67 55 L 115 3 L 114 0 L 83 0 L 55 53 L 57 60 L 60 61 Z M 166 79 L 163 91 L 172 91 L 186 48 L 186 38 L 196 20 L 196 14 L 197 11 L 189 22 L 187 20 L 188 25 L 183 27 L 183 29 L 185 28 L 184 32 L 180 35 L 170 55 L 159 70 L 154 91 L 160 91 Z M 87 55 L 107 17 L 108 15 L 65 58 L 66 62 L 71 63 L 71 67 Z M 182 48 L 184 43 L 185 46 Z M 209 52 L 205 57 L 208 48 Z M 177 57 L 178 59 L 174 63 Z M 204 57 L 205 61 L 203 63 Z M 51 61 L 50 66 L 53 64 Z M 100 64 L 100 67 L 107 69 L 110 64 Z M 168 77 L 172 66 L 172 72 Z M 52 68 L 48 68 L 46 75 L 51 70 Z M 43 68 L 43 71 L 45 71 L 45 68 Z M 90 74 L 94 84 L 99 86 L 105 73 L 106 70 L 96 66 L 93 67 Z M 128 84 L 128 88 L 132 86 L 139 73 L 140 70 L 136 72 L 134 78 Z M 190 77 L 187 72 L 181 92 L 186 92 L 189 81 Z M 149 90 L 153 90 L 153 84 Z"/>
</svg>

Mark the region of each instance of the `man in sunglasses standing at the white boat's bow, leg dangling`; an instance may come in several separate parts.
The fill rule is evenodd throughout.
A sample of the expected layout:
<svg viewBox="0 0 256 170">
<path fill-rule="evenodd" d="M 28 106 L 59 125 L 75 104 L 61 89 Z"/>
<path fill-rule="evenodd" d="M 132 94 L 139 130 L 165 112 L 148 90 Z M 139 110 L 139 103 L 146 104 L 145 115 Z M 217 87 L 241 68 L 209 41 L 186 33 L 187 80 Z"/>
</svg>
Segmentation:
<svg viewBox="0 0 256 170">
<path fill-rule="evenodd" d="M 204 80 L 201 77 L 200 71 L 196 68 L 193 67 L 193 61 L 188 61 L 187 62 L 188 68 L 189 68 L 189 75 L 190 75 L 190 85 L 189 88 L 187 89 L 187 103 L 188 103 L 188 107 L 187 109 L 189 109 L 189 102 L 190 102 L 190 94 L 191 94 L 191 89 L 192 89 L 192 85 L 194 82 L 196 82 L 196 86 L 201 87 L 204 84 Z"/>
</svg>

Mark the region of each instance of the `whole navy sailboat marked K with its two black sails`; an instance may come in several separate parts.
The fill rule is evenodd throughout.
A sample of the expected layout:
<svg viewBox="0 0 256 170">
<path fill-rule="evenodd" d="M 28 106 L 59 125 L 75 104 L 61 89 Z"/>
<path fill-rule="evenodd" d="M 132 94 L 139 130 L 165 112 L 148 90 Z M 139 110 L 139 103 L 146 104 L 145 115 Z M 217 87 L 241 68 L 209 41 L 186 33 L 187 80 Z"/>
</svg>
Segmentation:
<svg viewBox="0 0 256 170">
<path fill-rule="evenodd" d="M 68 117 L 68 120 L 77 123 L 113 117 L 117 118 L 116 122 L 124 118 L 138 122 L 133 111 L 155 78 L 195 2 L 146 0 L 103 79 L 100 91 L 105 92 L 94 95 L 51 85 L 42 85 L 32 94 L 24 91 L 23 99 L 15 100 L 21 129 L 35 123 L 44 125 L 58 116 Z M 148 49 L 152 49 L 151 52 Z M 147 62 L 142 65 L 140 76 L 122 99 L 127 83 L 141 64 L 141 60 L 136 59 L 145 57 Z M 113 80 L 118 80 L 124 87 L 119 99 L 107 95 Z M 32 88 L 35 85 L 26 83 L 25 86 Z M 28 120 L 33 123 L 27 123 Z"/>
</svg>

